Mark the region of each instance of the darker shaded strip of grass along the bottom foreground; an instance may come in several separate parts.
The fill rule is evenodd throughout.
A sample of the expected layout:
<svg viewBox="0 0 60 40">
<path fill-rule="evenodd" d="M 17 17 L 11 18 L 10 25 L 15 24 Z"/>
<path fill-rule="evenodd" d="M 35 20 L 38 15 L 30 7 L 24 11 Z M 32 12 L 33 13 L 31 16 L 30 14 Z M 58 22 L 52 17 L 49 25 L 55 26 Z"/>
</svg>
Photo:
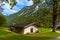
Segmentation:
<svg viewBox="0 0 60 40">
<path fill-rule="evenodd" d="M 49 40 L 52 37 L 33 37 L 33 36 L 23 36 L 23 35 L 11 35 L 7 37 L 1 37 L 0 40 Z"/>
</svg>

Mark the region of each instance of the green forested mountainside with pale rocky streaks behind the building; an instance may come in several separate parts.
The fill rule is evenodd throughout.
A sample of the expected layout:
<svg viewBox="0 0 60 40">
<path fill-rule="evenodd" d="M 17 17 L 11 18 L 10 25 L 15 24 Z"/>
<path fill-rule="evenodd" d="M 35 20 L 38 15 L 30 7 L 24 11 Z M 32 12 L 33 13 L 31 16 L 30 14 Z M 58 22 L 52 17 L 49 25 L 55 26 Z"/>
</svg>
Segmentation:
<svg viewBox="0 0 60 40">
<path fill-rule="evenodd" d="M 52 5 L 46 5 L 46 3 L 38 3 L 23 7 L 18 13 L 9 15 L 7 19 L 9 24 L 36 22 L 36 24 L 39 26 L 51 27 L 52 13 Z M 59 15 L 57 21 L 60 21 Z"/>
</svg>

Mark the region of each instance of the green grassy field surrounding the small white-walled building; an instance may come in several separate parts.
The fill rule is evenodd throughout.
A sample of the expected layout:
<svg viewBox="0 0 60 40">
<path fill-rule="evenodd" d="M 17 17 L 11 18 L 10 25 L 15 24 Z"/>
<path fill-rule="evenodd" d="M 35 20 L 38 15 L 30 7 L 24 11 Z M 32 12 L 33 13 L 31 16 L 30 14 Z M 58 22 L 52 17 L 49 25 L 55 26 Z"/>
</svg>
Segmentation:
<svg viewBox="0 0 60 40">
<path fill-rule="evenodd" d="M 0 29 L 0 40 L 50 40 L 60 36 L 59 33 L 50 31 L 51 28 L 39 28 L 39 33 L 21 35 L 14 32 L 8 32 L 7 28 Z"/>
</svg>

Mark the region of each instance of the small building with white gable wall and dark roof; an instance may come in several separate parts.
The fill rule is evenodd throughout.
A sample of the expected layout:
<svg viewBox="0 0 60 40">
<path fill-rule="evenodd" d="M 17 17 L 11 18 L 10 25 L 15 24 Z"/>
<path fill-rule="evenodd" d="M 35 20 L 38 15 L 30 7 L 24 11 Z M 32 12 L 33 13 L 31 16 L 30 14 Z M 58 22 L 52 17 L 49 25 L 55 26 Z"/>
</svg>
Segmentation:
<svg viewBox="0 0 60 40">
<path fill-rule="evenodd" d="M 20 34 L 30 34 L 38 32 L 38 28 L 36 25 L 34 25 L 34 23 L 11 25 L 10 30 Z"/>
</svg>

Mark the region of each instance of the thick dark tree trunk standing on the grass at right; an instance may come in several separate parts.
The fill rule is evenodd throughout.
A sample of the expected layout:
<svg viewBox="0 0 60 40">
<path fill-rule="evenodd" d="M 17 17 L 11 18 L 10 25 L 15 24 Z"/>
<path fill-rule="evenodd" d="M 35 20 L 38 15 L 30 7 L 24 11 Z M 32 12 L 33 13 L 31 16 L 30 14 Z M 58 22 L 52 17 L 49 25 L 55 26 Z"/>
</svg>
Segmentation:
<svg viewBox="0 0 60 40">
<path fill-rule="evenodd" d="M 56 31 L 56 19 L 57 19 L 57 6 L 58 6 L 58 1 L 53 0 L 53 32 Z"/>
</svg>

